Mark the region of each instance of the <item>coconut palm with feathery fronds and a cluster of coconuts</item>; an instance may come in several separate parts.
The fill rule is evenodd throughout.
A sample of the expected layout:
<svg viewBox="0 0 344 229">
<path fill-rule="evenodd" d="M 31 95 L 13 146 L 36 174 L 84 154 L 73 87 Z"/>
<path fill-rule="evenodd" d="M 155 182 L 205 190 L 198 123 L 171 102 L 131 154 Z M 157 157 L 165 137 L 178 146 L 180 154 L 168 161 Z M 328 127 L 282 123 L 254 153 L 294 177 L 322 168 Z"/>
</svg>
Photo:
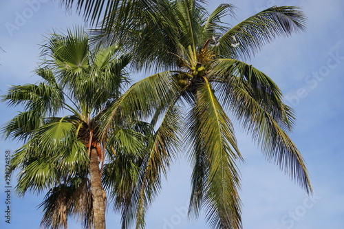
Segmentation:
<svg viewBox="0 0 344 229">
<path fill-rule="evenodd" d="M 120 3 L 125 6 L 127 1 Z M 193 166 L 189 216 L 197 217 L 204 208 L 212 228 L 241 228 L 237 163 L 242 156 L 228 113 L 252 135 L 267 160 L 311 193 L 303 157 L 288 136 L 294 111 L 283 102 L 271 78 L 242 61 L 276 36 L 304 30 L 301 10 L 272 7 L 228 27 L 222 19 L 233 16 L 230 4 L 208 13 L 195 0 L 150 3 L 140 14 L 133 14 L 127 25 L 121 9 L 105 19 L 122 20 L 127 26 L 126 30 L 118 31 L 115 25 L 105 30 L 110 35 L 106 39 L 113 37 L 131 48 L 137 69 L 162 70 L 132 85 L 107 109 L 102 122 L 106 130 L 118 117 L 122 122 L 151 118 L 157 129 L 136 187 L 131 195 L 122 195 L 126 203 L 120 207 L 123 228 L 134 220 L 137 228 L 144 228 L 144 213 L 181 146 L 186 147 Z M 116 188 L 112 190 L 116 195 Z"/>
</svg>

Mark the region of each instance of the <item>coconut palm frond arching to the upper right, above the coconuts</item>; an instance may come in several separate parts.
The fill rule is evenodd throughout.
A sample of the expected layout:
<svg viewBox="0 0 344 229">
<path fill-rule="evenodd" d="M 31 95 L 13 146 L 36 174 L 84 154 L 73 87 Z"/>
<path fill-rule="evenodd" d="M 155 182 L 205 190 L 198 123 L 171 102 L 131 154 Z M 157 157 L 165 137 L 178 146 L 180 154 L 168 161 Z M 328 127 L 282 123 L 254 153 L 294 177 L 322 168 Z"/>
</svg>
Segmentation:
<svg viewBox="0 0 344 229">
<path fill-rule="evenodd" d="M 305 15 L 294 6 L 274 6 L 230 28 L 219 39 L 217 52 L 224 58 L 250 58 L 276 36 L 305 30 Z"/>
</svg>

